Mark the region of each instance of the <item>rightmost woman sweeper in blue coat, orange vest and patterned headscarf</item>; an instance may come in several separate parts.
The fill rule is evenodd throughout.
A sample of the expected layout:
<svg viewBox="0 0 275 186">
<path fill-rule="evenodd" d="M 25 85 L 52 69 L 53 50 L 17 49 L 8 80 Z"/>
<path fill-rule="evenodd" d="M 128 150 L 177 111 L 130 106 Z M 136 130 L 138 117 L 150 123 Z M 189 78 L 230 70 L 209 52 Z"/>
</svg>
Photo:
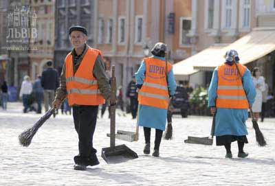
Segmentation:
<svg viewBox="0 0 275 186">
<path fill-rule="evenodd" d="M 239 67 L 241 78 L 236 65 Z M 225 158 L 232 158 L 233 141 L 238 141 L 238 157 L 248 156 L 248 153 L 243 151 L 243 146 L 248 143 L 245 121 L 248 119 L 248 108 L 254 103 L 255 96 L 250 71 L 239 63 L 239 56 L 235 50 L 227 51 L 225 63 L 214 69 L 208 89 L 208 106 L 211 113 L 216 115 L 214 135 L 217 146 L 225 146 Z"/>
</svg>

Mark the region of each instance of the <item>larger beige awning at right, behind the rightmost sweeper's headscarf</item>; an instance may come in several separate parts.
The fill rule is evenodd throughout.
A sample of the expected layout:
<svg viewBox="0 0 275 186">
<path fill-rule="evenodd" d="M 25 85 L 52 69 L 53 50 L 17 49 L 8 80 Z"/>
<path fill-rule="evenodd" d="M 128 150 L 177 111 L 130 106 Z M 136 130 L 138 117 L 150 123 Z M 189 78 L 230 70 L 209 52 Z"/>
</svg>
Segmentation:
<svg viewBox="0 0 275 186">
<path fill-rule="evenodd" d="M 245 65 L 275 50 L 275 30 L 274 28 L 256 28 L 234 43 L 217 49 L 213 52 L 214 55 L 203 55 L 203 51 L 205 51 L 203 50 L 197 54 L 200 58 L 196 58 L 196 61 L 193 62 L 194 69 L 213 70 L 225 61 L 223 56 L 229 49 L 235 49 L 239 54 L 240 63 Z"/>
</svg>

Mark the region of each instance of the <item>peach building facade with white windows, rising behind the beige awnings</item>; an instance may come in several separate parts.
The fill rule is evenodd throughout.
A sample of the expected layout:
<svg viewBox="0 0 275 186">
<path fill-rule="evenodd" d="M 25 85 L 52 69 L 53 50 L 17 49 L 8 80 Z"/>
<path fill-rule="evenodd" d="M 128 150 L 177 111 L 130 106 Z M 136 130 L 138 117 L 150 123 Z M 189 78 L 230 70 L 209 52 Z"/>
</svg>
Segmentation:
<svg viewBox="0 0 275 186">
<path fill-rule="evenodd" d="M 226 46 L 256 27 L 256 4 L 251 0 L 192 0 L 193 54 L 212 45 Z M 206 56 L 211 58 L 211 56 Z M 193 85 L 207 86 L 212 71 L 190 75 Z"/>
</svg>

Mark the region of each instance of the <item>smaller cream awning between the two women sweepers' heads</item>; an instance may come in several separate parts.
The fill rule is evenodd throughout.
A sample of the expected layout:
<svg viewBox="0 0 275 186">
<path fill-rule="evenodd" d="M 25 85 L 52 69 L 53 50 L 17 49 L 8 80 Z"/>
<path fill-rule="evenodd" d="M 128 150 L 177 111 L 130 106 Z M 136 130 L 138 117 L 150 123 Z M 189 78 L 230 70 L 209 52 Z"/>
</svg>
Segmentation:
<svg viewBox="0 0 275 186">
<path fill-rule="evenodd" d="M 194 56 L 190 56 L 190 58 L 177 62 L 175 65 L 173 65 L 175 79 L 188 80 L 189 75 L 199 71 L 199 69 L 194 69 L 194 65 L 197 65 L 197 63 L 203 63 L 205 60 L 208 60 L 208 56 L 217 56 L 217 54 L 220 52 L 220 49 L 223 47 L 224 45 L 214 45 L 204 49 L 203 51 L 200 51 Z"/>
</svg>

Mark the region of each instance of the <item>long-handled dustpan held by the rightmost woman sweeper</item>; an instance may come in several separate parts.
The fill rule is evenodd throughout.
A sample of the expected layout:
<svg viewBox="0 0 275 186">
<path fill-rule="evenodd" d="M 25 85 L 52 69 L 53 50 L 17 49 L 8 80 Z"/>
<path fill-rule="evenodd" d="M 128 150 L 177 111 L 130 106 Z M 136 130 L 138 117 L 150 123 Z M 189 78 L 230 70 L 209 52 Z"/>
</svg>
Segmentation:
<svg viewBox="0 0 275 186">
<path fill-rule="evenodd" d="M 213 136 L 214 136 L 214 127 L 215 127 L 215 118 L 216 118 L 216 115 L 213 116 L 212 126 L 211 126 L 211 136 L 210 137 L 188 137 L 188 139 L 184 140 L 184 143 L 192 143 L 192 144 L 199 144 L 199 145 L 204 145 L 204 146 L 212 146 Z"/>
</svg>

